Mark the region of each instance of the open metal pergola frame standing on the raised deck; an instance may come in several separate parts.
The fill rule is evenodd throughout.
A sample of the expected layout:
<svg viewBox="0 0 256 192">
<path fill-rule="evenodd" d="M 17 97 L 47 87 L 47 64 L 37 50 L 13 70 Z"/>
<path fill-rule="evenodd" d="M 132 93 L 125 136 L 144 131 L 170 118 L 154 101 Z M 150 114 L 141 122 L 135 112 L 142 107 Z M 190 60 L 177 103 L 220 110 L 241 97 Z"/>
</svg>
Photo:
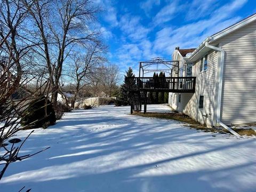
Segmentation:
<svg viewBox="0 0 256 192">
<path fill-rule="evenodd" d="M 180 70 L 179 61 L 166 60 L 164 58 L 157 57 L 149 61 L 140 61 L 139 63 L 140 63 L 139 78 L 141 77 L 141 72 L 142 72 L 142 77 L 144 77 L 144 74 L 153 73 L 157 71 L 171 74 L 171 77 L 172 77 L 172 72 L 175 67 L 178 68 L 177 77 L 179 77 L 179 70 Z M 151 66 L 154 66 L 154 68 L 152 68 Z"/>
</svg>

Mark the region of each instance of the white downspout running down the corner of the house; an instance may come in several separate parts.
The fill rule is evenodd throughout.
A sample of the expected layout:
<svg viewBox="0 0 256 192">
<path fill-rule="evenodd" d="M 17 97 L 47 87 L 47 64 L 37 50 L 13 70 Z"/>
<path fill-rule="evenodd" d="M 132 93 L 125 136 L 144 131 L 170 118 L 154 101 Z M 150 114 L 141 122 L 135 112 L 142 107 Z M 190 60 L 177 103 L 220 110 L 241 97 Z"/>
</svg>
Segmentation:
<svg viewBox="0 0 256 192">
<path fill-rule="evenodd" d="M 217 101 L 217 123 L 219 123 L 222 127 L 227 129 L 230 133 L 236 135 L 237 137 L 241 137 L 237 132 L 232 130 L 230 127 L 225 125 L 220 121 L 220 113 L 221 113 L 221 95 L 222 95 L 222 79 L 223 79 L 223 67 L 224 67 L 224 59 L 225 59 L 225 51 L 219 47 L 215 47 L 212 45 L 209 45 L 208 42 L 205 43 L 206 47 L 209 47 L 210 49 L 213 49 L 215 51 L 220 51 L 220 69 L 219 69 L 219 89 L 218 89 L 218 101 Z"/>
</svg>

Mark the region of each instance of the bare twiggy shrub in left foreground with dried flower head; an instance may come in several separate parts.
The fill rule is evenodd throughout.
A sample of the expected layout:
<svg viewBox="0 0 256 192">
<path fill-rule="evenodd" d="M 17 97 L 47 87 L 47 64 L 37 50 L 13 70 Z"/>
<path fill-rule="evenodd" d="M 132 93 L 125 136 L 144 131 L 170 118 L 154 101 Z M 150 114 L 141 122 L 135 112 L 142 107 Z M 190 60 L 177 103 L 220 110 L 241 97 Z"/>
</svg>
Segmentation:
<svg viewBox="0 0 256 192">
<path fill-rule="evenodd" d="M 25 115 L 23 111 L 26 111 L 28 108 L 30 101 L 36 99 L 38 97 L 37 91 L 35 92 L 28 92 L 26 90 L 26 84 L 28 81 L 22 81 L 19 85 L 15 85 L 15 79 L 17 79 L 17 74 L 13 74 L 12 63 L 8 62 L 7 60 L 2 59 L 1 61 L 1 68 L 0 68 L 0 180 L 2 179 L 4 172 L 6 171 L 7 167 L 16 161 L 22 161 L 28 157 L 31 157 L 35 154 L 40 153 L 38 151 L 34 154 L 28 155 L 19 155 L 19 151 L 23 146 L 23 143 L 28 139 L 31 133 L 27 136 L 25 140 L 21 143 L 21 145 L 17 145 L 18 142 L 21 142 L 20 139 L 13 138 L 17 132 L 20 130 L 26 129 L 29 125 L 21 127 L 21 119 Z M 50 80 L 45 82 L 46 87 L 50 84 Z M 17 93 L 19 90 L 23 90 L 27 92 L 26 95 L 23 95 L 20 99 L 13 99 L 12 95 Z M 49 90 L 44 89 L 44 92 Z M 42 94 L 42 93 L 41 93 Z M 47 106 L 47 102 L 45 103 Z M 44 118 L 44 117 L 42 117 Z M 39 121 L 38 119 L 37 121 Z M 33 122 L 36 123 L 37 121 Z M 13 139 L 11 139 L 13 138 Z M 8 145 L 8 142 L 11 143 L 11 146 Z"/>
</svg>

